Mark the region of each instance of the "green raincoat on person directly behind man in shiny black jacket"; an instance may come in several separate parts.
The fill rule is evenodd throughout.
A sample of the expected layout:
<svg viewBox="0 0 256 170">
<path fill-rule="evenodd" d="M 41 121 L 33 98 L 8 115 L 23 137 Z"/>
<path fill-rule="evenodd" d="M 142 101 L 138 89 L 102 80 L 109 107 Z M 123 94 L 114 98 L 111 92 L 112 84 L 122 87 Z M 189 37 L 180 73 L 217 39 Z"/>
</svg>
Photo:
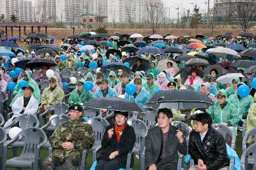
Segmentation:
<svg viewBox="0 0 256 170">
<path fill-rule="evenodd" d="M 239 121 L 239 114 L 236 106 L 228 101 L 223 110 L 221 110 L 220 104 L 216 102 L 213 106 L 209 107 L 208 113 L 211 115 L 213 122 L 216 124 L 230 122 L 232 125 L 236 125 Z"/>
</svg>

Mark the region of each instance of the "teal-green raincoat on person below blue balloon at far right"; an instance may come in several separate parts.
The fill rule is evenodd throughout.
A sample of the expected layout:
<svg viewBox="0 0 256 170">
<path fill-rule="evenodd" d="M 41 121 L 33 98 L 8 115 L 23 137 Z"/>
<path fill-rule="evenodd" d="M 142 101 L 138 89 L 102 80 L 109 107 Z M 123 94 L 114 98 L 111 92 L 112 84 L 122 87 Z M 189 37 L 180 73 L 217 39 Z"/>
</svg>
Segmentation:
<svg viewBox="0 0 256 170">
<path fill-rule="evenodd" d="M 252 96 L 243 97 L 239 101 L 237 94 L 229 96 L 228 101 L 236 106 L 239 114 L 239 120 L 242 119 L 243 114 L 246 113 L 253 104 Z"/>
</svg>

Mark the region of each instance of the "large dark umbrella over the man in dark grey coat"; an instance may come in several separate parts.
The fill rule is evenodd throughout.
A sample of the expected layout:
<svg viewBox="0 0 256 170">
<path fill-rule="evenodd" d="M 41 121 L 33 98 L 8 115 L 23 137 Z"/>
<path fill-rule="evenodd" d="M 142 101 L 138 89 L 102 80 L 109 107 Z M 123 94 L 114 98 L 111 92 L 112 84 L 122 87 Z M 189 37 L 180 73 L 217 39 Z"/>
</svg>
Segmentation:
<svg viewBox="0 0 256 170">
<path fill-rule="evenodd" d="M 176 108 L 187 110 L 193 108 L 209 108 L 214 102 L 202 94 L 193 90 L 161 90 L 151 97 L 146 104 L 154 108 Z"/>
</svg>

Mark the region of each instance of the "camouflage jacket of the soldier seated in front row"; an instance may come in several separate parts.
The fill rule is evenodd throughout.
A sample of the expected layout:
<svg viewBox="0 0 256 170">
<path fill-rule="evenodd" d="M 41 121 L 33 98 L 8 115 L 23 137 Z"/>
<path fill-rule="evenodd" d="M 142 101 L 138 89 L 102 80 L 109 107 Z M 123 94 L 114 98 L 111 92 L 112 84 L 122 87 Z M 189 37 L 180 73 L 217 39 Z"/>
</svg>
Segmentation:
<svg viewBox="0 0 256 170">
<path fill-rule="evenodd" d="M 54 153 L 58 154 L 58 157 L 67 157 L 74 153 L 77 154 L 77 152 L 81 155 L 83 150 L 93 146 L 93 129 L 81 116 L 78 120 L 69 120 L 57 127 L 49 138 L 49 142 L 54 148 Z M 72 142 L 74 149 L 64 150 L 61 147 L 61 144 L 64 142 Z"/>
</svg>

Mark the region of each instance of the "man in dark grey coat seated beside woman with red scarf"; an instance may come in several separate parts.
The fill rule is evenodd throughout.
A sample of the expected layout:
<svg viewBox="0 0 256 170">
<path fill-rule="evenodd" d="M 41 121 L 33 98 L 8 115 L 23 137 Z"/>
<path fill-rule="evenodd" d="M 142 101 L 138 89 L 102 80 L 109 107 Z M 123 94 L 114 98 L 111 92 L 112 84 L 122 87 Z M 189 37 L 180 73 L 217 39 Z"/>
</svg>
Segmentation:
<svg viewBox="0 0 256 170">
<path fill-rule="evenodd" d="M 186 155 L 188 146 L 182 131 L 171 125 L 172 111 L 159 109 L 158 126 L 148 130 L 145 141 L 145 169 L 177 169 L 178 151 Z"/>
</svg>

